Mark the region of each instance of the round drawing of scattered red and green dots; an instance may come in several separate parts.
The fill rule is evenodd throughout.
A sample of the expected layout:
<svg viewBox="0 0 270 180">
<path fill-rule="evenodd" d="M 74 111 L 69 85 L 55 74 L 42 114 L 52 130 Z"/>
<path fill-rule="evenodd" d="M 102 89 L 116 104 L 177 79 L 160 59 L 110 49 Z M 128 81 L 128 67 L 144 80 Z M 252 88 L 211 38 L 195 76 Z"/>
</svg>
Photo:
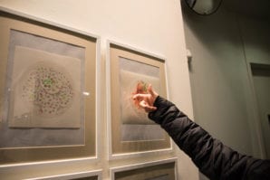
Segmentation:
<svg viewBox="0 0 270 180">
<path fill-rule="evenodd" d="M 53 63 L 34 64 L 24 73 L 21 87 L 22 98 L 44 118 L 62 115 L 74 98 L 69 74 Z"/>
</svg>

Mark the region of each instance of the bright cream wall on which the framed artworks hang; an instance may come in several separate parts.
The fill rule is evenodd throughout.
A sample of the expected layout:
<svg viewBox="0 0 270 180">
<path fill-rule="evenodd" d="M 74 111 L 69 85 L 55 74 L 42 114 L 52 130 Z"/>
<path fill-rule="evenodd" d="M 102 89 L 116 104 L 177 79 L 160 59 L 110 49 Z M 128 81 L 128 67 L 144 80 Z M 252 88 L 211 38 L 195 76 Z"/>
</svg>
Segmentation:
<svg viewBox="0 0 270 180">
<path fill-rule="evenodd" d="M 105 107 L 106 103 L 104 64 L 107 39 L 166 57 L 169 99 L 181 107 L 191 118 L 193 117 L 182 14 L 178 0 L 0 0 L 0 5 L 101 36 L 101 107 Z M 106 130 L 106 111 L 101 109 L 101 112 L 101 132 L 104 132 Z M 23 178 L 28 176 L 26 174 L 30 169 L 32 174 L 30 176 L 35 176 L 101 167 L 104 169 L 103 179 L 108 179 L 108 169 L 111 166 L 178 156 L 179 178 L 198 179 L 198 170 L 181 151 L 175 150 L 174 153 L 165 156 L 108 162 L 106 148 L 106 136 L 101 134 L 102 156 L 101 160 L 94 165 L 73 162 L 54 166 L 26 166 L 1 173 L 9 175 L 9 177 Z"/>
</svg>

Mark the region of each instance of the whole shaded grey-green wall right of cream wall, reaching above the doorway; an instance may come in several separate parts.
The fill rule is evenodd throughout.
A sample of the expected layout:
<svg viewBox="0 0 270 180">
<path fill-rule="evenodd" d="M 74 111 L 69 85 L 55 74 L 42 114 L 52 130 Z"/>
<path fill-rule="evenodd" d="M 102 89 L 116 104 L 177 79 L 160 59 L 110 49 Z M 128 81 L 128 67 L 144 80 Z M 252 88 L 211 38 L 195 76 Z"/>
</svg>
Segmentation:
<svg viewBox="0 0 270 180">
<path fill-rule="evenodd" d="M 201 16 L 184 7 L 195 121 L 237 151 L 264 157 L 249 62 L 269 63 L 267 21 L 228 11 Z"/>
</svg>

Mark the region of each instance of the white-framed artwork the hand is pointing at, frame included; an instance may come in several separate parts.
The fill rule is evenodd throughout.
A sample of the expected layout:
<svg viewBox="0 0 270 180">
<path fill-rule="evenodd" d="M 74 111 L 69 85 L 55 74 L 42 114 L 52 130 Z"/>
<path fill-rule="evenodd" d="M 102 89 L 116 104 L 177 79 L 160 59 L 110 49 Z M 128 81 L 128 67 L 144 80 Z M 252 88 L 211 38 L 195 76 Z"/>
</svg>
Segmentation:
<svg viewBox="0 0 270 180">
<path fill-rule="evenodd" d="M 108 42 L 108 51 L 110 158 L 169 150 L 167 133 L 132 100 L 137 88 L 147 93 L 149 84 L 167 98 L 165 60 L 119 43 Z"/>
</svg>

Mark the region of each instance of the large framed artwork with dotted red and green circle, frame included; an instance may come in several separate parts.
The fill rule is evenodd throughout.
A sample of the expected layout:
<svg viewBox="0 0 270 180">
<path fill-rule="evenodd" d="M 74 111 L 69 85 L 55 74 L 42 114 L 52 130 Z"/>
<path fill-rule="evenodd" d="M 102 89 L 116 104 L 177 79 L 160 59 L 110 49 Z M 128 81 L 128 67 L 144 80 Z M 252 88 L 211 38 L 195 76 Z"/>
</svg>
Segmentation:
<svg viewBox="0 0 270 180">
<path fill-rule="evenodd" d="M 100 38 L 0 9 L 0 166 L 97 157 Z"/>
</svg>

